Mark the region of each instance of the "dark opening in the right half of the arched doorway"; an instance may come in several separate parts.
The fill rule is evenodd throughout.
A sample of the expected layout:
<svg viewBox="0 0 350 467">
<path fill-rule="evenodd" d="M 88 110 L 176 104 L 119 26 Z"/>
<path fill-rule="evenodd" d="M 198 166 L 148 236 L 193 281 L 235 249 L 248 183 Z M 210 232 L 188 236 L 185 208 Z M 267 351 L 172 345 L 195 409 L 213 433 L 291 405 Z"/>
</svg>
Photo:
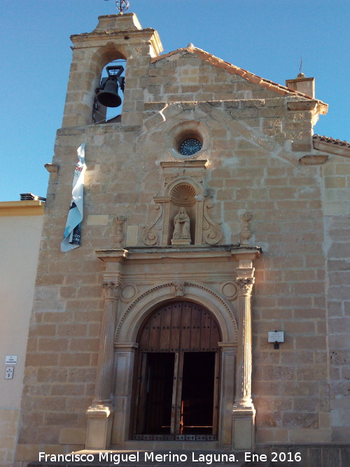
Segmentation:
<svg viewBox="0 0 350 467">
<path fill-rule="evenodd" d="M 215 352 L 185 352 L 181 434 L 213 433 Z"/>
</svg>

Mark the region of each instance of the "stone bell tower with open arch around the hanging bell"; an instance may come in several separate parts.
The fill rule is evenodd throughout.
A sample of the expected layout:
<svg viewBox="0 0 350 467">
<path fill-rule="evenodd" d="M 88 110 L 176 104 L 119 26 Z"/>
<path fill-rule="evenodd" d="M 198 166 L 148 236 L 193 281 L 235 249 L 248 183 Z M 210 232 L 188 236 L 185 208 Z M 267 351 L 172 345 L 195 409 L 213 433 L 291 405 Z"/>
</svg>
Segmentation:
<svg viewBox="0 0 350 467">
<path fill-rule="evenodd" d="M 142 29 L 134 13 L 99 16 L 99 23 L 90 33 L 74 34 L 73 58 L 64 106 L 62 127 L 90 125 L 95 90 L 99 88 L 102 70 L 113 60 L 127 60 L 123 123 L 137 125 L 143 76 L 151 57 L 162 52 L 155 29 Z M 144 69 L 146 74 L 146 69 Z"/>
</svg>

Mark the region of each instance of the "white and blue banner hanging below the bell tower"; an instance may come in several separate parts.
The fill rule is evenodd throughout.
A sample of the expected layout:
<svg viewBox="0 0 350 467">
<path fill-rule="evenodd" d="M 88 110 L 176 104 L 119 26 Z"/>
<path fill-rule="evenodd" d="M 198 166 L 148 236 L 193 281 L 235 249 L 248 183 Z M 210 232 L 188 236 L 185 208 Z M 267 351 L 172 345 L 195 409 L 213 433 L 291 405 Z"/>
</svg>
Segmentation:
<svg viewBox="0 0 350 467">
<path fill-rule="evenodd" d="M 83 191 L 85 174 L 85 143 L 78 148 L 78 162 L 74 170 L 71 205 L 66 219 L 61 251 L 69 251 L 80 246 L 81 221 L 83 221 Z"/>
</svg>

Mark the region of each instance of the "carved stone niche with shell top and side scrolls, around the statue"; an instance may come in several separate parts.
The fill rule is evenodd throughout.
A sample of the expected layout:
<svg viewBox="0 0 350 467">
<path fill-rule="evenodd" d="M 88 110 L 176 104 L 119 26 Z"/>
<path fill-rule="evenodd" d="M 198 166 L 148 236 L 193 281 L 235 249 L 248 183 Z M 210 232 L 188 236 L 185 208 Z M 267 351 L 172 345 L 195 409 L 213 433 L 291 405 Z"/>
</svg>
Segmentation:
<svg viewBox="0 0 350 467">
<path fill-rule="evenodd" d="M 207 160 L 160 162 L 164 188 L 162 195 L 153 197 L 158 216 L 144 227 L 141 236 L 144 245 L 221 244 L 223 232 L 211 218 L 210 209 L 214 204 L 204 188 L 207 163 Z M 185 236 L 190 239 L 178 239 L 174 235 L 174 218 L 179 211 L 184 211 L 189 218 L 190 235 Z"/>
</svg>

